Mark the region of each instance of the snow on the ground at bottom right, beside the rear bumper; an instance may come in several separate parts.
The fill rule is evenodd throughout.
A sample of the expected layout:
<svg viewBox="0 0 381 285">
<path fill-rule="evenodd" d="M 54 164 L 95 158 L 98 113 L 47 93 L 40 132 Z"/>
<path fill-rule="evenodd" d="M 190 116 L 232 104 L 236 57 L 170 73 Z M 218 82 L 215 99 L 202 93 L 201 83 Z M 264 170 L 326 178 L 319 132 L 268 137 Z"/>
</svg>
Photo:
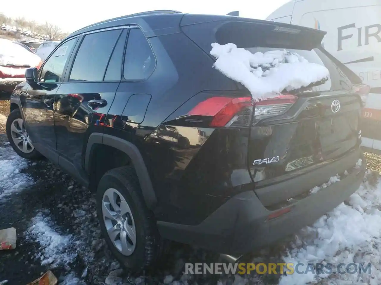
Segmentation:
<svg viewBox="0 0 381 285">
<path fill-rule="evenodd" d="M 292 274 L 282 276 L 279 285 L 304 285 L 328 279 L 324 284 L 378 284 L 381 280 L 381 179 L 376 187 L 363 183 L 333 211 L 321 217 L 291 244 L 286 263 L 371 263 L 371 274 Z M 299 267 L 299 271 L 306 268 Z"/>
</svg>

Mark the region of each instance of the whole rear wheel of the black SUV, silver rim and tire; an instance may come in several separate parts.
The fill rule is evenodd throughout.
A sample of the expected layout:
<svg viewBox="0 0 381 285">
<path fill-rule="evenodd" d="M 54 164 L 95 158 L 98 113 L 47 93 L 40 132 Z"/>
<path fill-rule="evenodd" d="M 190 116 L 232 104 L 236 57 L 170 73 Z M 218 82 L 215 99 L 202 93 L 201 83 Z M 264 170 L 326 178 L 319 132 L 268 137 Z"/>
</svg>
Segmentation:
<svg viewBox="0 0 381 285">
<path fill-rule="evenodd" d="M 115 168 L 102 176 L 97 211 L 109 249 L 126 268 L 138 272 L 157 259 L 160 238 L 133 167 Z"/>
</svg>

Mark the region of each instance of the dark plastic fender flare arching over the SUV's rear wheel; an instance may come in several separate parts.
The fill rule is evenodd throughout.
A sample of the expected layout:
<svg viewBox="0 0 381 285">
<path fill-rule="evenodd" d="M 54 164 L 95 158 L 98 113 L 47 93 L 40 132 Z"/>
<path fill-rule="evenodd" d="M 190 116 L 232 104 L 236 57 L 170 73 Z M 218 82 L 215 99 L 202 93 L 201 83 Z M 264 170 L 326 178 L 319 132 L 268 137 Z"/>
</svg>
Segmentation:
<svg viewBox="0 0 381 285">
<path fill-rule="evenodd" d="M 136 175 L 139 179 L 139 184 L 142 190 L 144 201 L 149 209 L 153 209 L 156 205 L 157 199 L 152 187 L 151 179 L 149 177 L 146 164 L 142 158 L 142 155 L 139 152 L 139 149 L 131 142 L 126 141 L 125 139 L 118 138 L 116 136 L 106 135 L 102 133 L 92 133 L 89 136 L 86 153 L 85 153 L 85 170 L 89 173 L 90 169 L 90 155 L 91 149 L 94 144 L 104 144 L 106 146 L 114 147 L 125 154 L 127 154 L 133 163 L 133 166 L 136 170 Z"/>
</svg>

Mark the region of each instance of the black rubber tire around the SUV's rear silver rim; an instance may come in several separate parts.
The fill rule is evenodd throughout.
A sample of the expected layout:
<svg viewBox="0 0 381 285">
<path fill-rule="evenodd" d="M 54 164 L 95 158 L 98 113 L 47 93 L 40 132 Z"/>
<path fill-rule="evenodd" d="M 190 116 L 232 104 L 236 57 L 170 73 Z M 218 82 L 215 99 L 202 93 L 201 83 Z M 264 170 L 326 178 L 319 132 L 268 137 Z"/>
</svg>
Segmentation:
<svg viewBox="0 0 381 285">
<path fill-rule="evenodd" d="M 115 188 L 130 206 L 136 227 L 136 247 L 129 256 L 123 255 L 110 240 L 102 214 L 102 199 L 108 188 Z M 106 243 L 117 258 L 131 272 L 138 273 L 152 265 L 161 255 L 162 244 L 155 218 L 146 206 L 135 169 L 122 166 L 107 171 L 98 184 L 96 204 L 99 224 Z"/>
</svg>

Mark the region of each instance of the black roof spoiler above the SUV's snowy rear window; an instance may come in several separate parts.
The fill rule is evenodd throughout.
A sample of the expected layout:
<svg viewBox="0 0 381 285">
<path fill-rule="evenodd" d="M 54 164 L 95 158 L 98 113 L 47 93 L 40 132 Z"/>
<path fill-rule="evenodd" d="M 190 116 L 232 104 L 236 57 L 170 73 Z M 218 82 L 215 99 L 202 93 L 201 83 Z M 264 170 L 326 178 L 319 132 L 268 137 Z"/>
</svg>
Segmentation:
<svg viewBox="0 0 381 285">
<path fill-rule="evenodd" d="M 321 45 L 327 33 L 313 28 L 266 20 L 227 15 L 185 14 L 180 22 L 182 30 L 186 34 L 191 33 L 192 28 L 189 27 L 191 25 L 200 26 L 197 28 L 197 33 L 204 34 L 204 41 L 208 38 L 206 40 L 208 47 L 203 47 L 208 51 L 211 49 L 210 44 L 214 42 L 234 43 L 238 47 L 258 46 L 311 50 Z"/>
</svg>

